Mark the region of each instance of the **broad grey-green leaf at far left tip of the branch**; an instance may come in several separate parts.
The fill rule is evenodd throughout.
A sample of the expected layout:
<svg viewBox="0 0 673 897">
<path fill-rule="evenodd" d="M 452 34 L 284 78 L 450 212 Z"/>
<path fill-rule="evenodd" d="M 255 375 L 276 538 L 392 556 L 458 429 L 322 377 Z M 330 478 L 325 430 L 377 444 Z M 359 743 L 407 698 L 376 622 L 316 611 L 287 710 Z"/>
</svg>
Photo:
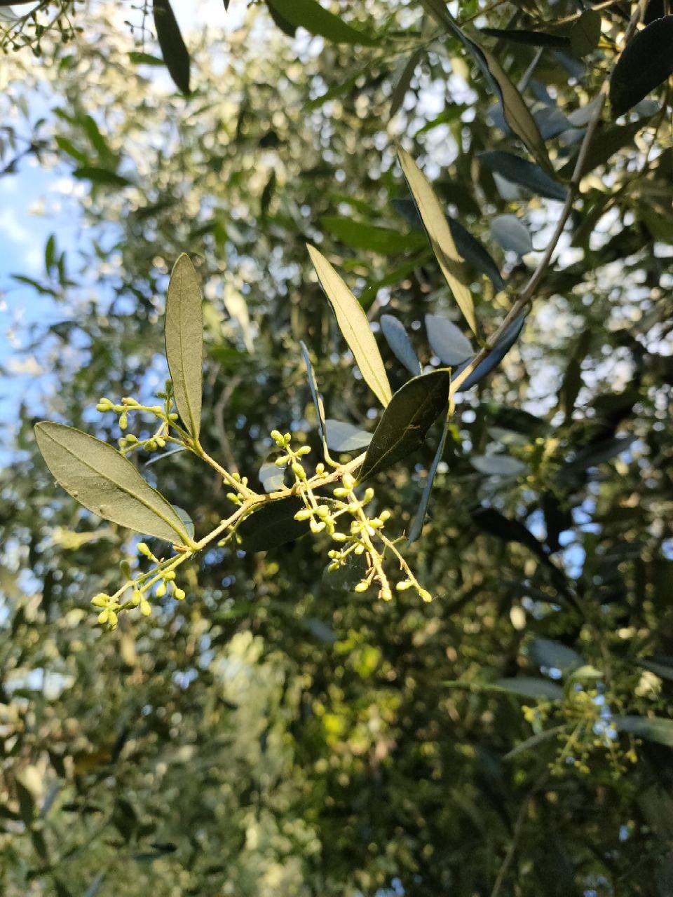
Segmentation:
<svg viewBox="0 0 673 897">
<path fill-rule="evenodd" d="M 177 511 L 116 448 L 49 421 L 35 425 L 35 439 L 54 479 L 84 508 L 136 533 L 191 544 Z"/>
</svg>

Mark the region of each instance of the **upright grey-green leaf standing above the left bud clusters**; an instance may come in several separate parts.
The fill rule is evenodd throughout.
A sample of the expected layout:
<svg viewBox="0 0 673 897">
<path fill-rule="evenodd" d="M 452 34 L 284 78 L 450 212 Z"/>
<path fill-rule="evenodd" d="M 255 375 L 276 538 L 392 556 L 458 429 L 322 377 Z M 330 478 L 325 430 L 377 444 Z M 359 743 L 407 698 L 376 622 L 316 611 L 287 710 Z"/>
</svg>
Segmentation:
<svg viewBox="0 0 673 897">
<path fill-rule="evenodd" d="M 204 313 L 197 272 L 185 253 L 170 273 L 165 335 L 175 405 L 189 433 L 198 440 L 203 390 Z"/>
</svg>

